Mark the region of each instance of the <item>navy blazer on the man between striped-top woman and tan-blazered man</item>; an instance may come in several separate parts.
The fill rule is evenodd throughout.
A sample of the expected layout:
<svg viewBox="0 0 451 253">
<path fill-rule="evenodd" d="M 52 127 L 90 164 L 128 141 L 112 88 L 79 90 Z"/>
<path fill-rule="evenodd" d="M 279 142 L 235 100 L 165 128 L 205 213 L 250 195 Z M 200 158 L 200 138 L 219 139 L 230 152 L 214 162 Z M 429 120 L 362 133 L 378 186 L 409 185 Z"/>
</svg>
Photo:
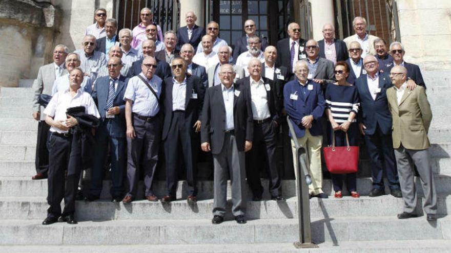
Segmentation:
<svg viewBox="0 0 451 253">
<path fill-rule="evenodd" d="M 365 134 L 375 134 L 377 125 L 379 125 L 383 134 L 390 134 L 392 132 L 392 114 L 388 109 L 386 90 L 393 86 L 392 82 L 387 74 L 379 74 L 379 88 L 381 90 L 376 95 L 376 100 L 373 100 L 366 78 L 367 76 L 363 74 L 355 81 L 360 97 L 360 110 L 357 119 L 359 123 L 365 125 Z"/>
</svg>

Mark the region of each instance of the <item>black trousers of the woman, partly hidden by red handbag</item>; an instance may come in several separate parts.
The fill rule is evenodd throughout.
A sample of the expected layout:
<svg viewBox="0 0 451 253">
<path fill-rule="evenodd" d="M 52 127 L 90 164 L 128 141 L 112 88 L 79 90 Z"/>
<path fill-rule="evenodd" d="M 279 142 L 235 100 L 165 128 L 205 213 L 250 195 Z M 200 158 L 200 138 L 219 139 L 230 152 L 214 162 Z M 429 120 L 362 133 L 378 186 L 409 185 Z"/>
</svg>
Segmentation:
<svg viewBox="0 0 451 253">
<path fill-rule="evenodd" d="M 334 131 L 331 127 L 331 140 L 330 144 L 332 145 L 332 131 Z M 347 136 L 349 140 L 350 146 L 358 146 L 359 143 L 359 130 L 357 128 L 357 123 L 351 123 L 349 129 L 347 129 Z M 346 146 L 346 133 L 338 130 L 335 131 L 335 146 L 342 147 Z M 356 182 L 357 173 L 349 173 L 349 174 L 331 174 L 332 183 L 334 185 L 334 191 L 341 191 L 343 180 L 346 181 L 346 188 L 350 192 L 355 192 L 357 190 L 357 182 Z"/>
</svg>

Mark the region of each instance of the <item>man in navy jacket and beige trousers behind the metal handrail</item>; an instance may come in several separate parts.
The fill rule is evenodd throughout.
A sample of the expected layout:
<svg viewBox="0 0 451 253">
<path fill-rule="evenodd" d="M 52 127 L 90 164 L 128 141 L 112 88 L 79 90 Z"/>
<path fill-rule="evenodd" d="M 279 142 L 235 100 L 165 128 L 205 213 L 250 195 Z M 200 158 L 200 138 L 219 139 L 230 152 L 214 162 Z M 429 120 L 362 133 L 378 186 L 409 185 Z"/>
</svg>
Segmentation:
<svg viewBox="0 0 451 253">
<path fill-rule="evenodd" d="M 296 80 L 283 87 L 283 104 L 290 116 L 299 145 L 309 156 L 309 174 L 312 184 L 309 186 L 311 197 L 327 198 L 322 191 L 321 144 L 322 128 L 320 118 L 324 113 L 324 97 L 321 85 L 309 80 L 309 66 L 305 61 L 295 64 Z M 293 138 L 293 136 L 292 136 Z M 295 176 L 298 175 L 296 147 L 291 142 Z"/>
</svg>

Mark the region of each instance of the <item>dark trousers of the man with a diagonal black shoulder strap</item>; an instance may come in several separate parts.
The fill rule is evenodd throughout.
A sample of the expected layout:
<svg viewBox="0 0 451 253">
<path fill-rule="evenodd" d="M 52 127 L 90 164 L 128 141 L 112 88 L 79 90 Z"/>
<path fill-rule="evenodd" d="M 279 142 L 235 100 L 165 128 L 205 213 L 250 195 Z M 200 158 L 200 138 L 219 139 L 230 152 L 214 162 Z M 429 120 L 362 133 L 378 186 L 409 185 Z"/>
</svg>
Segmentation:
<svg viewBox="0 0 451 253">
<path fill-rule="evenodd" d="M 133 140 L 127 138 L 127 196 L 136 196 L 141 169 L 144 172 L 145 194 L 152 196 L 152 182 L 161 141 L 161 120 L 158 116 L 149 121 L 139 119 L 136 114 L 132 117 L 136 137 Z"/>
</svg>

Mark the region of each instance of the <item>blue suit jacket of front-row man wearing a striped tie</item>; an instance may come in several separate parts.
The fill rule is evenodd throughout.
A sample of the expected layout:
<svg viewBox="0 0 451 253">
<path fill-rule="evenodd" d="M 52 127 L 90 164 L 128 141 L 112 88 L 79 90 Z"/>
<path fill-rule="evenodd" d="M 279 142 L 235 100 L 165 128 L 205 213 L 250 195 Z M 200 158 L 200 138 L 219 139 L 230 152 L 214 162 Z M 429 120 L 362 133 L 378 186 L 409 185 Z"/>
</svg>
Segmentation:
<svg viewBox="0 0 451 253">
<path fill-rule="evenodd" d="M 125 138 L 125 132 L 127 130 L 126 121 L 125 121 L 125 101 L 124 94 L 127 88 L 127 83 L 129 79 L 120 75 L 116 94 L 113 101 L 113 106 L 119 107 L 119 114 L 117 114 L 112 120 L 111 128 L 109 129 L 109 133 L 111 137 L 122 137 Z M 97 109 L 100 114 L 100 121 L 105 122 L 106 112 L 107 112 L 107 103 L 108 103 L 108 93 L 110 87 L 110 77 L 99 77 L 97 78 L 94 90 L 92 91 L 92 98 L 94 102 L 97 104 Z"/>
</svg>

